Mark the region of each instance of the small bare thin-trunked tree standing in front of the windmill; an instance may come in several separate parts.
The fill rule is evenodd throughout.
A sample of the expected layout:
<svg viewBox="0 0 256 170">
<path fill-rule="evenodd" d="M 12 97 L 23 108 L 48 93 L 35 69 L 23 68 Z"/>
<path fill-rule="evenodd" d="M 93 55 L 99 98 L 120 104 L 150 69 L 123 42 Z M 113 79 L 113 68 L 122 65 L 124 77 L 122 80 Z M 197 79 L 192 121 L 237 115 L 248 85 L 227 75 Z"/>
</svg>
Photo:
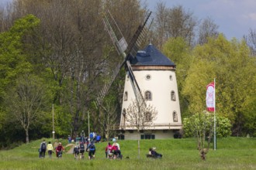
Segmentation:
<svg viewBox="0 0 256 170">
<path fill-rule="evenodd" d="M 137 129 L 138 158 L 140 158 L 140 131 L 150 128 L 157 119 L 157 110 L 151 104 L 145 103 L 145 99 L 133 100 L 126 110 L 126 122 L 130 128 Z"/>
</svg>

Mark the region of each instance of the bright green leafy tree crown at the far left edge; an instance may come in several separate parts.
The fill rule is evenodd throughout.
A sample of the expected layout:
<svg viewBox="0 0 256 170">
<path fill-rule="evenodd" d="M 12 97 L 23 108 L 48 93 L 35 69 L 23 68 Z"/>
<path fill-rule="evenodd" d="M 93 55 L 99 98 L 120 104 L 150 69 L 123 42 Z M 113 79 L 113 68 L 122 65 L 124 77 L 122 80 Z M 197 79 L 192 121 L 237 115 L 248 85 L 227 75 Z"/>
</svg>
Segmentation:
<svg viewBox="0 0 256 170">
<path fill-rule="evenodd" d="M 30 72 L 31 64 L 22 52 L 22 37 L 31 32 L 40 20 L 33 15 L 18 19 L 8 32 L 0 34 L 0 95 L 4 96 L 5 88 L 15 83 L 17 76 Z M 0 98 L 0 102 L 1 102 Z"/>
</svg>

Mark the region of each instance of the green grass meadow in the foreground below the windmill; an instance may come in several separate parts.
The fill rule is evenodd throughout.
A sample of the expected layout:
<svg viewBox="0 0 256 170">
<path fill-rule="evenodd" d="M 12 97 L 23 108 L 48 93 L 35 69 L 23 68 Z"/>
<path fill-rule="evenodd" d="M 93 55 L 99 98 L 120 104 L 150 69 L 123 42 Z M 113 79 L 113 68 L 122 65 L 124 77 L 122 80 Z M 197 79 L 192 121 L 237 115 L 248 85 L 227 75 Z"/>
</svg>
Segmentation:
<svg viewBox="0 0 256 170">
<path fill-rule="evenodd" d="M 256 138 L 217 139 L 217 149 L 211 149 L 206 161 L 199 157 L 193 138 L 140 141 L 138 158 L 137 141 L 119 141 L 123 160 L 105 158 L 107 142 L 96 144 L 94 160 L 76 160 L 67 154 L 63 158 L 38 158 L 39 141 L 21 145 L 9 151 L 0 151 L 0 169 L 256 169 Z M 49 141 L 49 140 L 47 140 Z M 67 145 L 67 140 L 61 141 Z M 157 147 L 161 159 L 146 158 L 150 147 Z M 87 152 L 85 153 L 87 155 Z M 129 156 L 129 159 L 126 157 Z"/>
</svg>

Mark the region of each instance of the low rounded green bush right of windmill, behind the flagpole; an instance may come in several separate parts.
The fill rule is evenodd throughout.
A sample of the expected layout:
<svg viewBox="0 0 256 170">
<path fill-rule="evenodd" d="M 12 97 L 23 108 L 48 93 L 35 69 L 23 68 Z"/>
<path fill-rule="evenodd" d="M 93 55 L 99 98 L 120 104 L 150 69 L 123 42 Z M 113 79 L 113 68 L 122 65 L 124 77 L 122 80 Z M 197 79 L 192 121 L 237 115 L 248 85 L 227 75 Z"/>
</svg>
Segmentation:
<svg viewBox="0 0 256 170">
<path fill-rule="evenodd" d="M 213 114 L 194 114 L 191 117 L 184 118 L 183 130 L 184 137 L 190 138 L 195 136 L 198 131 L 202 131 L 202 128 L 206 127 L 206 134 L 213 132 Z M 201 129 L 200 129 L 201 128 Z M 216 137 L 227 138 L 231 134 L 230 120 L 226 117 L 216 116 Z"/>
</svg>

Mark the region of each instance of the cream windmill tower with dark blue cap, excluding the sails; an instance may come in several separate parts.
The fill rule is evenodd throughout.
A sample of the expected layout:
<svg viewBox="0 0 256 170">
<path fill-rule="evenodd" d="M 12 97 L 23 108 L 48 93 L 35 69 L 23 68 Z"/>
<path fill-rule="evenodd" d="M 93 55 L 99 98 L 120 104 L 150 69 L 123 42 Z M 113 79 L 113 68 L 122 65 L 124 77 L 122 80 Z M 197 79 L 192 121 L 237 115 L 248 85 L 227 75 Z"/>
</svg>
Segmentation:
<svg viewBox="0 0 256 170">
<path fill-rule="evenodd" d="M 150 127 L 140 131 L 141 139 L 177 138 L 182 129 L 182 116 L 178 100 L 178 86 L 175 63 L 164 56 L 153 45 L 139 51 L 130 61 L 133 74 L 140 90 L 147 98 L 147 104 L 154 106 L 157 118 Z M 126 109 L 136 99 L 129 74 L 126 74 L 123 91 L 123 105 L 120 120 L 120 139 L 137 139 L 137 129 L 130 128 L 126 122 Z"/>
</svg>

